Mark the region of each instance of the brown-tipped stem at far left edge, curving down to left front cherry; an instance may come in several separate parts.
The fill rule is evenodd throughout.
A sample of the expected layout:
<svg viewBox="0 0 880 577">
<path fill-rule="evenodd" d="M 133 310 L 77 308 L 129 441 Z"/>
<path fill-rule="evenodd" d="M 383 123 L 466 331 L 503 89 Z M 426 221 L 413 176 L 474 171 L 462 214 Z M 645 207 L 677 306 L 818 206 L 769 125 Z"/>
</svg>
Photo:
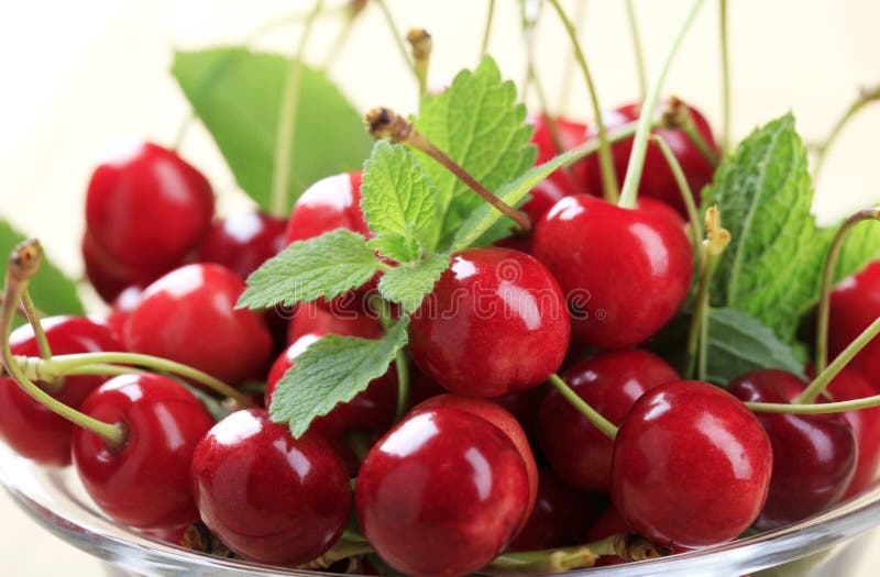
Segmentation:
<svg viewBox="0 0 880 577">
<path fill-rule="evenodd" d="M 0 357 L 2 357 L 3 367 L 6 367 L 7 374 L 12 380 L 36 402 L 72 423 L 91 431 L 100 436 L 108 446 L 120 446 L 125 441 L 125 431 L 121 424 L 99 421 L 61 402 L 31 381 L 12 358 L 9 333 L 12 330 L 15 309 L 28 291 L 28 284 L 40 269 L 42 260 L 43 251 L 35 240 L 22 242 L 12 251 L 10 256 L 3 290 L 2 311 L 0 312 L 0 335 L 2 337 Z"/>
</svg>

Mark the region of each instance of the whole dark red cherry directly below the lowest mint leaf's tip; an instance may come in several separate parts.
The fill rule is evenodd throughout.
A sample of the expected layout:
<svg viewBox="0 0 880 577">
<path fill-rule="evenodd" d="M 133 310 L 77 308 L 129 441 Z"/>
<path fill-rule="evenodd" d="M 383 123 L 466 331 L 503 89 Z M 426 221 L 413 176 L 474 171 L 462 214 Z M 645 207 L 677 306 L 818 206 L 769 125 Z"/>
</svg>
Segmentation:
<svg viewBox="0 0 880 577">
<path fill-rule="evenodd" d="M 262 409 L 217 423 L 196 447 L 191 475 L 208 529 L 258 563 L 314 559 L 351 514 L 349 477 L 328 442 L 311 432 L 295 440 Z"/>
</svg>

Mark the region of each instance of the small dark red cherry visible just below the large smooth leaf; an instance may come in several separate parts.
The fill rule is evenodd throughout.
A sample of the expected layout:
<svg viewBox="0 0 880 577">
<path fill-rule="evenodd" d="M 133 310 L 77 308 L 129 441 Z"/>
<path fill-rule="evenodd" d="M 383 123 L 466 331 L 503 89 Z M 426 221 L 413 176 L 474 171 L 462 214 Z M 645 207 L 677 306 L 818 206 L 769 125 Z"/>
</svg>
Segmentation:
<svg viewBox="0 0 880 577">
<path fill-rule="evenodd" d="M 196 253 L 196 260 L 223 265 L 248 278 L 285 246 L 287 221 L 257 210 L 240 210 L 216 221 Z"/>
</svg>

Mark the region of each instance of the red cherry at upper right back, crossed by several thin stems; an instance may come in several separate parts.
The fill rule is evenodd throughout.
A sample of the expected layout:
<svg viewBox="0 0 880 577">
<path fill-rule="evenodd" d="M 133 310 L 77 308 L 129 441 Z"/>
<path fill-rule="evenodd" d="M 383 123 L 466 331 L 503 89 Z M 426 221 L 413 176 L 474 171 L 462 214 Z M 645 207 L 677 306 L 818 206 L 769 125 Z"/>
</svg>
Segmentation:
<svg viewBox="0 0 880 577">
<path fill-rule="evenodd" d="M 627 104 L 610 112 L 603 113 L 602 120 L 605 122 L 605 127 L 607 130 L 613 130 L 637 121 L 640 108 L 641 107 L 637 103 Z M 663 108 L 662 102 L 659 108 Z M 696 124 L 696 131 L 717 155 L 718 147 L 715 144 L 715 138 L 712 135 L 712 129 L 708 122 L 706 122 L 706 119 L 696 109 L 693 107 L 690 108 L 694 118 L 694 123 Z M 657 134 L 669 144 L 672 154 L 675 155 L 675 159 L 679 160 L 684 171 L 688 184 L 691 186 L 694 201 L 700 204 L 700 191 L 703 190 L 704 186 L 712 182 L 712 177 L 715 173 L 712 164 L 703 156 L 696 145 L 691 142 L 684 131 L 656 129 L 653 134 Z M 595 127 L 591 126 L 586 131 L 586 138 L 594 138 L 596 136 Z M 620 182 L 623 182 L 624 176 L 626 175 L 631 152 L 632 138 L 627 138 L 612 145 L 614 168 L 617 174 L 617 179 Z M 596 195 L 602 193 L 602 173 L 596 155 L 586 158 L 584 163 L 584 179 L 587 190 L 594 191 Z M 682 215 L 686 215 L 684 202 L 679 192 L 679 186 L 675 184 L 675 177 L 672 175 L 672 170 L 669 168 L 663 153 L 660 152 L 659 146 L 653 142 L 648 143 L 648 152 L 645 155 L 645 171 L 641 182 L 639 182 L 639 196 L 660 199 L 668 202 Z"/>
</svg>

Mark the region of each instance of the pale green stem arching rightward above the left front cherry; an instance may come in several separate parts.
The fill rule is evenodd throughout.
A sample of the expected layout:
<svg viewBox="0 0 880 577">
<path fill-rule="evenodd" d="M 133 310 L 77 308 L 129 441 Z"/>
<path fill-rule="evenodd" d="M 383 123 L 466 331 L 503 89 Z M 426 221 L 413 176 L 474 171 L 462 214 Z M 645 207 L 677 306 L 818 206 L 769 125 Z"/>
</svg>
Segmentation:
<svg viewBox="0 0 880 577">
<path fill-rule="evenodd" d="M 204 385 L 218 395 L 234 399 L 235 402 L 244 408 L 253 407 L 253 403 L 248 397 L 233 389 L 222 380 L 208 375 L 207 373 L 175 360 L 152 355 L 142 355 L 140 353 L 100 352 L 56 355 L 52 358 L 52 360 L 43 362 L 43 370 L 51 375 L 67 375 L 70 370 L 77 368 L 81 369 L 82 366 L 102 364 L 135 365 L 154 370 L 165 370 L 167 373 L 173 373 L 180 377 L 190 379 L 199 385 Z"/>
</svg>

